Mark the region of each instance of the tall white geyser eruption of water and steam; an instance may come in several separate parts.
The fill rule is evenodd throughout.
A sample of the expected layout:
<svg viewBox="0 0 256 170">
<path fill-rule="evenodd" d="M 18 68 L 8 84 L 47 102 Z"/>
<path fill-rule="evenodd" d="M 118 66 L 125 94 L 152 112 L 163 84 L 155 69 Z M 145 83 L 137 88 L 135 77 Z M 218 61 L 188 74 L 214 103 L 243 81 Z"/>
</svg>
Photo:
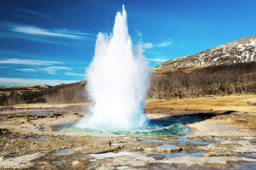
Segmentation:
<svg viewBox="0 0 256 170">
<path fill-rule="evenodd" d="M 145 127 L 143 113 L 148 87 L 148 61 L 141 45 L 133 51 L 124 5 L 117 12 L 113 34 L 99 33 L 93 61 L 87 68 L 87 90 L 95 105 L 78 127 L 129 130 Z"/>
</svg>

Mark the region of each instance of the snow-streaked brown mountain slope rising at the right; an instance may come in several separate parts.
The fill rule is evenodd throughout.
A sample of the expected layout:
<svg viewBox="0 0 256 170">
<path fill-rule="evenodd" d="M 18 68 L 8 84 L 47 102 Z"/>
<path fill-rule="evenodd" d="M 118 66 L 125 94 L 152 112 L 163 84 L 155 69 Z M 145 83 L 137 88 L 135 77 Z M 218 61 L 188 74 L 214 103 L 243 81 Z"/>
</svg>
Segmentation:
<svg viewBox="0 0 256 170">
<path fill-rule="evenodd" d="M 189 69 L 210 65 L 233 64 L 237 62 L 256 61 L 256 36 L 243 37 L 216 48 L 210 48 L 191 56 L 178 57 L 166 61 L 156 68 L 171 70 Z"/>
</svg>

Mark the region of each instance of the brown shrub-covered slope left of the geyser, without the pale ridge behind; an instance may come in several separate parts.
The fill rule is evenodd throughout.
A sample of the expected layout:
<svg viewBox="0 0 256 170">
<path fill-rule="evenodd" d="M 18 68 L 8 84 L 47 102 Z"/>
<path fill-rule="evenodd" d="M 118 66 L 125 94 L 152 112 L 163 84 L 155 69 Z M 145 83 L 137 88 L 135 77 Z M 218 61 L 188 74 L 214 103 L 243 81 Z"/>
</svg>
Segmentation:
<svg viewBox="0 0 256 170">
<path fill-rule="evenodd" d="M 38 91 L 23 91 L 0 95 L 0 105 L 11 106 L 29 103 L 70 104 L 88 102 L 86 81 L 56 85 Z"/>
</svg>

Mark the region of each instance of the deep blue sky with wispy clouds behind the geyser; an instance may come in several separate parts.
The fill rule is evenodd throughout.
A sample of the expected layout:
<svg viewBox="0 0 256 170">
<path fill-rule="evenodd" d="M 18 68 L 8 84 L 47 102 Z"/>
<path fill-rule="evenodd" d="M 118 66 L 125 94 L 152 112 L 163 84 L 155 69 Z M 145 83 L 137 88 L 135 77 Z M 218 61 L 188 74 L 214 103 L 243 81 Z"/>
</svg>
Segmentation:
<svg viewBox="0 0 256 170">
<path fill-rule="evenodd" d="M 83 80 L 122 4 L 151 67 L 256 35 L 255 0 L 1 0 L 0 85 Z"/>
</svg>

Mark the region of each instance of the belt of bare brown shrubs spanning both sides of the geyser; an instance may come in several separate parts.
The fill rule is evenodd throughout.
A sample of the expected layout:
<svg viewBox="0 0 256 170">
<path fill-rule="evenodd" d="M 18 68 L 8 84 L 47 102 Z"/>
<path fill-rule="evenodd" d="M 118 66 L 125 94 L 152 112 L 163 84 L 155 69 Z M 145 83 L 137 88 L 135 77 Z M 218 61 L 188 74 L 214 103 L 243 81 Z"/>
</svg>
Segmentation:
<svg viewBox="0 0 256 170">
<path fill-rule="evenodd" d="M 89 102 L 86 81 L 49 86 L 37 91 L 0 95 L 0 105 L 29 103 L 72 104 Z M 147 99 L 172 99 L 205 95 L 256 94 L 256 62 L 217 65 L 192 71 L 167 71 L 151 75 Z"/>
</svg>

